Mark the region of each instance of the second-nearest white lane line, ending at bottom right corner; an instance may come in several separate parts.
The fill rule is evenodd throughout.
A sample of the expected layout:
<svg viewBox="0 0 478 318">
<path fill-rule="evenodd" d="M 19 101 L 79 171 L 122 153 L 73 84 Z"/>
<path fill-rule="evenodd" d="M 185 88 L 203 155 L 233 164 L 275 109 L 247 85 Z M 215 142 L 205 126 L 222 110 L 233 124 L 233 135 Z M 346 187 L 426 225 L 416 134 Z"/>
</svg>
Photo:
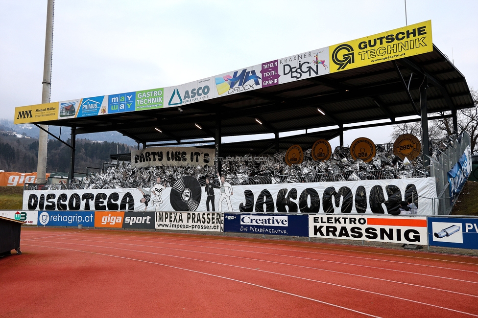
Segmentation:
<svg viewBox="0 0 478 318">
<path fill-rule="evenodd" d="M 62 242 L 49 242 L 49 241 L 47 241 L 47 242 L 42 242 L 42 243 L 65 244 L 65 243 L 62 243 Z M 421 302 L 421 301 L 417 301 L 417 300 L 411 300 L 411 299 L 407 299 L 407 298 L 403 298 L 403 297 L 398 297 L 398 296 L 393 296 L 393 295 L 387 295 L 387 294 L 382 294 L 382 293 L 367 291 L 367 290 L 363 290 L 363 289 L 359 289 L 359 288 L 355 288 L 355 287 L 349 287 L 349 286 L 344 286 L 344 285 L 340 285 L 340 284 L 334 284 L 334 283 L 324 282 L 324 281 L 315 280 L 315 279 L 311 279 L 311 278 L 305 278 L 305 277 L 300 277 L 300 276 L 288 275 L 288 274 L 284 274 L 284 273 L 276 273 L 276 272 L 271 272 L 271 271 L 264 271 L 264 270 L 260 270 L 260 269 L 256 269 L 256 268 L 249 268 L 249 267 L 243 267 L 243 266 L 238 266 L 238 265 L 231 265 L 231 264 L 218 263 L 218 262 L 213 262 L 213 261 L 206 261 L 206 260 L 202 260 L 202 259 L 195 259 L 195 258 L 191 258 L 191 257 L 184 257 L 184 256 L 177 256 L 177 255 L 169 255 L 169 254 L 148 252 L 148 251 L 142 251 L 142 250 L 128 250 L 128 249 L 120 249 L 120 248 L 113 248 L 113 247 L 104 247 L 104 246 L 88 245 L 88 244 L 74 244 L 74 243 L 66 243 L 66 244 L 73 244 L 73 245 L 80 245 L 80 246 L 88 246 L 88 247 L 97 247 L 97 248 L 107 248 L 107 249 L 114 249 L 114 250 L 126 250 L 126 251 L 131 251 L 131 252 L 139 252 L 139 253 L 145 253 L 145 254 L 152 254 L 152 255 L 160 255 L 160 256 L 167 256 L 167 257 L 187 259 L 187 260 L 191 260 L 191 261 L 205 262 L 205 263 L 210 263 L 210 264 L 215 264 L 215 265 L 221 265 L 221 266 L 229 266 L 229 267 L 234 267 L 234 268 L 238 268 L 238 269 L 256 271 L 256 272 L 261 272 L 261 273 L 275 274 L 275 275 L 280 275 L 280 276 L 285 276 L 285 277 L 290 277 L 290 278 L 296 278 L 296 279 L 307 280 L 307 281 L 311 281 L 311 282 L 315 282 L 315 283 L 321 283 L 321 284 L 325 284 L 325 285 L 331 285 L 331 286 L 340 287 L 340 288 L 351 289 L 351 290 L 355 290 L 355 291 L 359 291 L 359 292 L 363 292 L 363 293 L 369 293 L 369 294 L 374 294 L 374 295 L 380 295 L 380 296 L 385 296 L 385 297 L 400 299 L 400 300 L 404 300 L 404 301 L 409 301 L 409 302 L 417 303 L 417 304 L 420 304 L 420 305 L 431 306 L 431 307 L 440 308 L 440 309 L 444 309 L 444 310 L 449 310 L 449 311 L 453 311 L 453 312 L 460 313 L 460 314 L 464 314 L 464 315 L 470 315 L 470 316 L 478 317 L 478 315 L 475 315 L 475 314 L 471 314 L 471 313 L 467 313 L 467 312 L 463 312 L 463 311 L 459 311 L 459 310 L 455 310 L 455 309 L 451 309 L 451 308 L 447 308 L 447 307 L 442 307 L 442 306 L 438 306 L 438 305 L 433 305 L 433 304 L 429 304 L 429 303 L 425 303 L 425 302 Z M 161 264 L 161 265 L 164 265 L 164 264 Z M 171 266 L 171 267 L 173 267 L 173 266 Z M 183 270 L 184 270 L 184 268 L 180 268 L 180 269 L 183 269 Z M 192 271 L 192 270 L 191 270 L 191 271 Z M 202 273 L 202 272 L 198 272 L 198 273 Z"/>
</svg>

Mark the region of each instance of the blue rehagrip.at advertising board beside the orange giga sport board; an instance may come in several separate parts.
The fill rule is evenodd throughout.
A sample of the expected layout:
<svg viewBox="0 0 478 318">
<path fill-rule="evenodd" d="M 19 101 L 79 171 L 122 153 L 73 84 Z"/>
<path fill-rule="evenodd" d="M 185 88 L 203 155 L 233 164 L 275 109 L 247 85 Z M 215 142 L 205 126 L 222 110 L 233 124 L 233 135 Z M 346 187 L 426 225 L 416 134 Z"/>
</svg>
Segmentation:
<svg viewBox="0 0 478 318">
<path fill-rule="evenodd" d="M 38 226 L 46 227 L 95 226 L 93 211 L 38 211 Z"/>
</svg>

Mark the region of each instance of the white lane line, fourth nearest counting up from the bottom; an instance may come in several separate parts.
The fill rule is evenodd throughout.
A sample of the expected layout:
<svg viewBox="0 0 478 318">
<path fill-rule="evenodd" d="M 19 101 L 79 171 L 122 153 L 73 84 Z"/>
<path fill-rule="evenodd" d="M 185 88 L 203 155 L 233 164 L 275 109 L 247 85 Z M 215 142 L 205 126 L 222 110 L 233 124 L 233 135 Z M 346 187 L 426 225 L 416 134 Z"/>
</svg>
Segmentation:
<svg viewBox="0 0 478 318">
<path fill-rule="evenodd" d="M 60 239 L 68 239 L 68 238 L 60 237 Z M 75 240 L 75 239 L 72 238 L 72 240 Z M 128 241 L 130 241 L 130 240 L 128 240 Z M 99 242 L 103 243 L 105 241 L 99 241 Z M 431 275 L 431 274 L 424 274 L 424 273 L 416 273 L 416 272 L 407 272 L 407 271 L 403 271 L 403 270 L 393 270 L 393 269 L 389 269 L 389 268 L 382 268 L 382 267 L 369 266 L 369 265 L 359 265 L 359 264 L 354 264 L 354 263 L 344 263 L 344 262 L 337 262 L 337 261 L 331 261 L 331 260 L 325 260 L 325 259 L 316 259 L 316 258 L 301 257 L 301 256 L 291 256 L 291 255 L 284 255 L 284 254 L 273 254 L 273 253 L 257 252 L 257 251 L 250 251 L 250 250 L 234 250 L 234 249 L 217 248 L 217 247 L 204 247 L 204 246 L 188 245 L 188 244 L 181 244 L 181 243 L 151 242 L 151 241 L 142 241 L 142 242 L 159 243 L 159 244 L 165 243 L 165 244 L 181 245 L 181 246 L 188 246 L 188 247 L 202 247 L 202 248 L 205 248 L 205 249 L 230 250 L 230 251 L 237 251 L 237 252 L 246 252 L 246 253 L 256 253 L 256 254 L 264 254 L 264 255 L 272 255 L 272 256 L 290 257 L 290 258 L 297 258 L 297 259 L 306 259 L 306 260 L 311 260 L 311 261 L 335 263 L 335 264 L 340 264 L 340 265 L 350 265 L 350 266 L 357 266 L 357 267 L 373 268 L 373 269 L 391 271 L 391 272 L 398 272 L 398 273 L 409 273 L 409 274 L 415 274 L 415 275 L 422 275 L 422 276 L 429 276 L 429 277 L 435 277 L 435 278 L 443 278 L 443 279 L 456 280 L 456 281 L 461 281 L 461 282 L 466 282 L 466 283 L 478 284 L 478 282 L 476 282 L 476 281 L 463 280 L 463 279 L 452 278 L 452 277 L 445 277 L 445 276 L 438 276 L 438 275 Z M 115 243 L 115 242 L 111 242 L 111 243 Z M 116 243 L 121 244 L 119 242 L 116 242 Z M 130 244 L 130 243 L 124 243 L 124 244 Z M 475 272 L 473 272 L 473 273 L 475 273 Z"/>
</svg>

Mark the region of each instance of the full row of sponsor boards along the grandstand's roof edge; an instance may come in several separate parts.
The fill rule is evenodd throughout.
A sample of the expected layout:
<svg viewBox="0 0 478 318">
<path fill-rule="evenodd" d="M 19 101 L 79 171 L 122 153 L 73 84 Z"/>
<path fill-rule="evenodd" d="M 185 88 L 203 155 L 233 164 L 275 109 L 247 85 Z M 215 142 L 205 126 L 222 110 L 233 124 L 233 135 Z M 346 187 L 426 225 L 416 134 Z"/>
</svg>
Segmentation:
<svg viewBox="0 0 478 318">
<path fill-rule="evenodd" d="M 425 21 L 178 86 L 16 107 L 14 123 L 179 107 L 432 50 L 431 21 Z"/>
</svg>

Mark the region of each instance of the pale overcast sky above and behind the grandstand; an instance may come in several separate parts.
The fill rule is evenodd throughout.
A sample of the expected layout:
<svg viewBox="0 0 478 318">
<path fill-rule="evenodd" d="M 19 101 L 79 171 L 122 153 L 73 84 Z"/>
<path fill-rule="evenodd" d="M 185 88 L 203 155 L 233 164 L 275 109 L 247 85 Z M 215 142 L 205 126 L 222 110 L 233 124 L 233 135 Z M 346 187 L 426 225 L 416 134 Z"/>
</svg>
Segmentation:
<svg viewBox="0 0 478 318">
<path fill-rule="evenodd" d="M 433 43 L 478 87 L 478 1 L 406 11 L 408 24 L 431 20 Z M 46 12 L 47 0 L 0 0 L 0 118 L 41 102 Z M 56 0 L 51 101 L 183 84 L 402 26 L 404 0 Z"/>
</svg>

